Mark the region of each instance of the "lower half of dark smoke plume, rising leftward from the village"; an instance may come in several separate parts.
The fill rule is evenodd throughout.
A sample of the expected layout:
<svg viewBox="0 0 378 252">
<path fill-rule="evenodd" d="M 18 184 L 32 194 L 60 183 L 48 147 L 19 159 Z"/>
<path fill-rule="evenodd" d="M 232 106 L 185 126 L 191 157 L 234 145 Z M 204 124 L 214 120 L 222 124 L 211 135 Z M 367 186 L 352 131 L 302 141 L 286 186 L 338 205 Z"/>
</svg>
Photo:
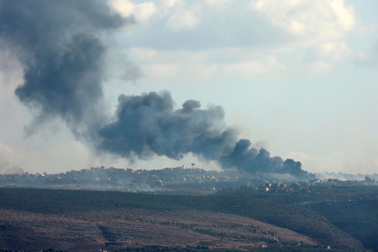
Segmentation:
<svg viewBox="0 0 378 252">
<path fill-rule="evenodd" d="M 236 142 L 237 131 L 226 128 L 220 106 L 201 109 L 199 101 L 188 100 L 174 109 L 169 92 L 120 95 L 118 103 L 117 120 L 100 131 L 103 141 L 99 148 L 104 151 L 122 157 L 157 154 L 177 160 L 191 152 L 215 160 L 225 169 L 299 178 L 311 175 L 302 170 L 301 162 L 270 157 L 264 148 L 251 148 L 248 139 Z"/>
</svg>

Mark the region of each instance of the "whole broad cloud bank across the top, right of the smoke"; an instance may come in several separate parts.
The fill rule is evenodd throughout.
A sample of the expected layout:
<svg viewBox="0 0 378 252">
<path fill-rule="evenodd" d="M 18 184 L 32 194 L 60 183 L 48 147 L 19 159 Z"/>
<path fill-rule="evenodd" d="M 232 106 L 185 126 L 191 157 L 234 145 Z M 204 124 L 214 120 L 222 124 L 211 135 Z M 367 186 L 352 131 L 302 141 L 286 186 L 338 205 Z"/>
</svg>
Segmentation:
<svg viewBox="0 0 378 252">
<path fill-rule="evenodd" d="M 136 20 L 141 20 L 129 29 L 124 41 L 135 41 L 131 58 L 142 64 L 147 76 L 181 75 L 184 64 L 187 72 L 197 70 L 197 66 L 209 70 L 206 74 L 204 71 L 195 74 L 206 78 L 219 71 L 241 74 L 245 78 L 284 68 L 291 72 L 308 72 L 308 65 L 309 73 L 321 74 L 360 54 L 348 44 L 348 39 L 352 32 L 362 29 L 362 24 L 356 22 L 353 6 L 344 0 L 252 0 L 242 3 L 160 0 L 140 4 L 112 0 L 111 3 L 123 15 L 133 14 Z M 187 40 L 183 40 L 186 36 Z M 137 47 L 143 50 L 138 51 Z M 230 48 L 236 53 L 246 51 L 246 54 L 239 54 L 236 59 Z M 229 57 L 231 62 L 210 59 L 215 55 L 214 50 L 223 50 L 224 56 L 218 53 L 216 57 Z M 190 52 L 195 56 L 189 56 Z M 266 57 L 256 57 L 256 52 L 277 62 L 271 64 Z M 281 57 L 281 54 L 291 54 L 290 58 L 299 64 L 285 62 L 285 56 Z"/>
</svg>

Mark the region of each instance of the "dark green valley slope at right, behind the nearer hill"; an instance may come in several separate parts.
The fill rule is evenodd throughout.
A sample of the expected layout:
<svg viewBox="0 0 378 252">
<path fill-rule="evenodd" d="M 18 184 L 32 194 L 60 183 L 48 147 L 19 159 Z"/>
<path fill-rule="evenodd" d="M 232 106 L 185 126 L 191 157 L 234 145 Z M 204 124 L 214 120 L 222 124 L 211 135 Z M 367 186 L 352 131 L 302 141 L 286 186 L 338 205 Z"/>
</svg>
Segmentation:
<svg viewBox="0 0 378 252">
<path fill-rule="evenodd" d="M 317 185 L 309 187 L 311 192 L 299 188 L 296 186 L 290 192 L 280 188 L 270 188 L 269 191 L 256 188 L 225 189 L 218 194 L 259 198 L 309 208 L 357 238 L 364 247 L 378 251 L 377 186 Z"/>
</svg>

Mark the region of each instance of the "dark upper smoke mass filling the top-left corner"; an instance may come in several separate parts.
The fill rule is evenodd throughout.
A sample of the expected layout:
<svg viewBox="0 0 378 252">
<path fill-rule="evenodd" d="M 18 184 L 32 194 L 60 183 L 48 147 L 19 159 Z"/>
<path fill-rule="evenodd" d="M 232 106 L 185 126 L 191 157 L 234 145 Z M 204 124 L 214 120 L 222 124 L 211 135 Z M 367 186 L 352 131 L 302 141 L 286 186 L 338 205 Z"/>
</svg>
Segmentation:
<svg viewBox="0 0 378 252">
<path fill-rule="evenodd" d="M 102 0 L 0 1 L 0 36 L 24 65 L 15 94 L 39 111 L 28 131 L 57 116 L 77 137 L 93 131 L 104 118 L 106 47 L 98 37 L 127 22 Z"/>
</svg>

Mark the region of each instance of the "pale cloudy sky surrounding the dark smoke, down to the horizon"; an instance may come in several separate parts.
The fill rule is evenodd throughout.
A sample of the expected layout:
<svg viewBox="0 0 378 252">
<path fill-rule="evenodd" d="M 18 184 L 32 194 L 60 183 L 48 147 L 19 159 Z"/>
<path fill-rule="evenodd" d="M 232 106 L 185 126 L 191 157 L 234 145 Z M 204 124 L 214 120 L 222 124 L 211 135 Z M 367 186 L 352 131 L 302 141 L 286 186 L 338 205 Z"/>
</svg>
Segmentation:
<svg viewBox="0 0 378 252">
<path fill-rule="evenodd" d="M 106 45 L 101 106 L 108 114 L 116 112 L 122 93 L 167 90 L 175 108 L 187 100 L 222 106 L 240 138 L 271 156 L 300 161 L 309 172 L 378 172 L 377 1 L 107 4 L 135 21 L 99 35 Z M 181 160 L 99 153 L 59 117 L 30 132 L 38 111 L 15 95 L 24 82 L 16 54 L 0 44 L 0 173 L 190 163 L 220 170 L 190 153 Z"/>
</svg>

